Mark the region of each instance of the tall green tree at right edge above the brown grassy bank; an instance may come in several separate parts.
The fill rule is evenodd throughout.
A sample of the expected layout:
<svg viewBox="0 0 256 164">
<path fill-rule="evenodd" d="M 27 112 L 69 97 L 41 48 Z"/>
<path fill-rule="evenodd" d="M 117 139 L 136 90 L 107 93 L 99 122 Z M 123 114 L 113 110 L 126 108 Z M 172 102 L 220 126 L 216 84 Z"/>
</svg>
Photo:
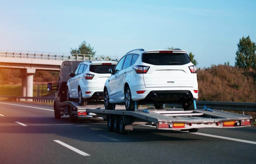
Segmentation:
<svg viewBox="0 0 256 164">
<path fill-rule="evenodd" d="M 246 38 L 243 36 L 239 40 L 237 48 L 235 66 L 256 70 L 256 45 L 251 41 L 249 35 Z"/>
</svg>

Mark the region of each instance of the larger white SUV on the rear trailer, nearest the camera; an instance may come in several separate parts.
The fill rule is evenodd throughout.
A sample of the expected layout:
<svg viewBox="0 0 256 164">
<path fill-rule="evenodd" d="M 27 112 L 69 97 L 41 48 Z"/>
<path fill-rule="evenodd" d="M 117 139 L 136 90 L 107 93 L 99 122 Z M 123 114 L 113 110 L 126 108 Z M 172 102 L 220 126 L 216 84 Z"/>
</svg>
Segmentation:
<svg viewBox="0 0 256 164">
<path fill-rule="evenodd" d="M 163 108 L 165 103 L 182 104 L 193 110 L 198 98 L 196 67 L 186 51 L 135 49 L 123 56 L 104 86 L 105 109 L 125 104 L 126 110 L 135 105 L 154 104 Z"/>
</svg>

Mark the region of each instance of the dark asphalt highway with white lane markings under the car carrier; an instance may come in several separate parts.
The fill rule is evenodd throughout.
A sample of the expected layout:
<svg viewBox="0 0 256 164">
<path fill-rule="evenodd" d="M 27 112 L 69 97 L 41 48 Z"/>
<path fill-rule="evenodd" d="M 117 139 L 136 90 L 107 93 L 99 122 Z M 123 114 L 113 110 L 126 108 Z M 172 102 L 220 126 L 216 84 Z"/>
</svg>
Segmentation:
<svg viewBox="0 0 256 164">
<path fill-rule="evenodd" d="M 53 107 L 0 102 L 0 163 L 255 163 L 256 127 L 161 131 L 137 125 L 128 135 L 106 121 L 54 118 Z"/>
</svg>

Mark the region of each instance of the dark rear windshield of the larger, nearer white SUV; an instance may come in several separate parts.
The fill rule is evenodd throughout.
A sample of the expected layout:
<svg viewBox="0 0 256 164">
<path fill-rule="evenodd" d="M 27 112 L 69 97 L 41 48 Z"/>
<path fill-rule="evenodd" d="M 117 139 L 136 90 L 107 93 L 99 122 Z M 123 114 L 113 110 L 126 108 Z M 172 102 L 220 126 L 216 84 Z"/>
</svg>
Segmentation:
<svg viewBox="0 0 256 164">
<path fill-rule="evenodd" d="M 152 65 L 184 65 L 190 60 L 186 53 L 144 53 L 142 62 Z"/>
</svg>

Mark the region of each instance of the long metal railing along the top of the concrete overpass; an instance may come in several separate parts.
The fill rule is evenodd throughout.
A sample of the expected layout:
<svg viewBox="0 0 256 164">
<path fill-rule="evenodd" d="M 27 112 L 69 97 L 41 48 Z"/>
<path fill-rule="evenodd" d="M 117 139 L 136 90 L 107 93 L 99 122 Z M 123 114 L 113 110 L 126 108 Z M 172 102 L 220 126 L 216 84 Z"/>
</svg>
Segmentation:
<svg viewBox="0 0 256 164">
<path fill-rule="evenodd" d="M 52 53 L 52 52 L 37 52 L 37 51 L 16 51 L 0 49 L 0 57 L 11 58 L 29 58 L 29 59 L 46 59 L 46 60 L 120 60 L 117 56 L 104 55 L 87 55 L 87 54 L 69 54 L 69 53 Z"/>
</svg>

